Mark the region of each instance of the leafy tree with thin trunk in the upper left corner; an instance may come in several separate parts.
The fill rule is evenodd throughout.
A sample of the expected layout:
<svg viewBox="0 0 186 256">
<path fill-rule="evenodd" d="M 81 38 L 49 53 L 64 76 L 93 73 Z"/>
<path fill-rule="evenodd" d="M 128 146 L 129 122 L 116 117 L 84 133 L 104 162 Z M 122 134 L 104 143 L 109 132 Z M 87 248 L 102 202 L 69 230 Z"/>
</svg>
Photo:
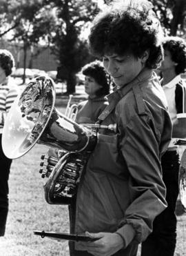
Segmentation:
<svg viewBox="0 0 186 256">
<path fill-rule="evenodd" d="M 43 0 L 1 0 L 0 25 L 0 37 L 9 34 L 8 41 L 19 44 L 20 49 L 23 48 L 25 83 L 27 52 L 41 40 L 45 41 L 45 47 L 48 46 L 48 35 L 54 30 L 54 15 L 50 6 L 43 8 Z M 33 57 L 34 54 L 31 55 L 30 65 Z"/>
</svg>

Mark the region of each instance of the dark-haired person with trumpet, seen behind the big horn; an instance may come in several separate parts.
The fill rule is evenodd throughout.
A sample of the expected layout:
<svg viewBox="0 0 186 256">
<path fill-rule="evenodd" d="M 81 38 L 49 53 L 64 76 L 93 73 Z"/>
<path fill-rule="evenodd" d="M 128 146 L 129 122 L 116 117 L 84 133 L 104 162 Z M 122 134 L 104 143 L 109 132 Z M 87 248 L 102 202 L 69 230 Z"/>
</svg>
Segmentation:
<svg viewBox="0 0 186 256">
<path fill-rule="evenodd" d="M 99 60 L 88 63 L 81 72 L 85 75 L 85 92 L 88 99 L 78 104 L 75 121 L 78 124 L 95 124 L 108 104 L 105 96 L 110 92 L 110 75 Z"/>
</svg>

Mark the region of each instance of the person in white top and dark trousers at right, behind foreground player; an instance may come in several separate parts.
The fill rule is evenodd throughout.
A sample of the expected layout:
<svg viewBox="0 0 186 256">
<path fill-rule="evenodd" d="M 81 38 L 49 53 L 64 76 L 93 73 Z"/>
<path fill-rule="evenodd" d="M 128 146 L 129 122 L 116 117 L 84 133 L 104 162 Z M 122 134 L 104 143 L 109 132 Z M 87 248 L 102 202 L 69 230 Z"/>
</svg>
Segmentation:
<svg viewBox="0 0 186 256">
<path fill-rule="evenodd" d="M 186 137 L 186 87 L 180 74 L 186 70 L 186 44 L 180 37 L 163 39 L 161 85 L 172 119 L 172 141 L 161 159 L 163 181 L 167 188 L 167 208 L 154 220 L 153 232 L 142 244 L 141 256 L 173 256 L 176 248 L 176 200 L 179 193 L 180 157 L 174 138 Z"/>
</svg>

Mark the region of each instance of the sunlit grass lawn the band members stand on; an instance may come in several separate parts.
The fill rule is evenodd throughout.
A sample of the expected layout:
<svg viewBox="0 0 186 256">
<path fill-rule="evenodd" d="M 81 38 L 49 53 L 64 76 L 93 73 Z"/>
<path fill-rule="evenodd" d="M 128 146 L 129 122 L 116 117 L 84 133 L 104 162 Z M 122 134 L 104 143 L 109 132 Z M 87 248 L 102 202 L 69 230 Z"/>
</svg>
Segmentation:
<svg viewBox="0 0 186 256">
<path fill-rule="evenodd" d="M 63 109 L 60 109 L 63 112 Z M 68 206 L 50 205 L 44 199 L 39 164 L 48 148 L 37 144 L 14 159 L 10 172 L 10 210 L 5 237 L 0 238 L 0 256 L 69 256 L 68 242 L 41 238 L 33 230 L 69 233 Z M 139 254 L 138 254 L 139 255 Z M 186 255 L 186 214 L 178 216 L 175 256 Z M 149 255 L 150 256 L 150 255 Z"/>
</svg>

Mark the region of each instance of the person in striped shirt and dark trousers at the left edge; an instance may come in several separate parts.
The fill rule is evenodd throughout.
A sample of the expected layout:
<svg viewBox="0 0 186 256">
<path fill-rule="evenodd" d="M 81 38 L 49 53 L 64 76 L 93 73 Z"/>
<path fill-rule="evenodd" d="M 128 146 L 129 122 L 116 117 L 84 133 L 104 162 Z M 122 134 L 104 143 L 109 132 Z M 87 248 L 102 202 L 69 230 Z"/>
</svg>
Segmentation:
<svg viewBox="0 0 186 256">
<path fill-rule="evenodd" d="M 19 90 L 10 77 L 14 68 L 14 57 L 8 50 L 0 50 L 0 140 L 2 139 L 3 124 Z M 8 216 L 8 177 L 12 159 L 4 155 L 0 141 L 0 236 L 5 234 Z"/>
</svg>

